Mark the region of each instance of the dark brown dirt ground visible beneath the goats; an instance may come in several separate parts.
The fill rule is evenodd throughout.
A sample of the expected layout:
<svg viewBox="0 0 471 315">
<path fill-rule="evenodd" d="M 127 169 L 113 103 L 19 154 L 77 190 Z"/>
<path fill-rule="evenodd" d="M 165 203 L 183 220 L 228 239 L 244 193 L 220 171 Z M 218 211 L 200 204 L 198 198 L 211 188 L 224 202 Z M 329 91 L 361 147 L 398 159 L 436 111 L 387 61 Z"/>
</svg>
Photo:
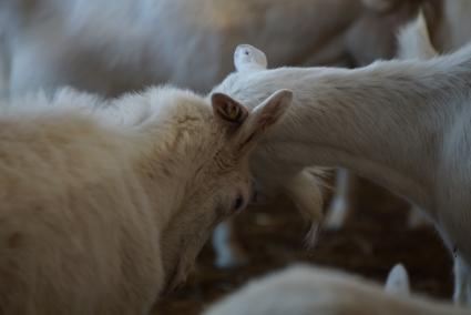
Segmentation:
<svg viewBox="0 0 471 315">
<path fill-rule="evenodd" d="M 295 262 L 338 267 L 380 282 L 392 265 L 402 262 L 413 291 L 449 298 L 451 258 L 437 232 L 408 228 L 408 204 L 367 181 L 358 181 L 355 196 L 347 226 L 321 232 L 317 246 L 309 251 L 303 245 L 308 226 L 293 205 L 277 201 L 276 206 L 247 209 L 237 216 L 237 233 L 248 264 L 217 270 L 211 246 L 206 246 L 186 285 L 161 299 L 153 314 L 199 314 L 248 280 Z"/>
</svg>

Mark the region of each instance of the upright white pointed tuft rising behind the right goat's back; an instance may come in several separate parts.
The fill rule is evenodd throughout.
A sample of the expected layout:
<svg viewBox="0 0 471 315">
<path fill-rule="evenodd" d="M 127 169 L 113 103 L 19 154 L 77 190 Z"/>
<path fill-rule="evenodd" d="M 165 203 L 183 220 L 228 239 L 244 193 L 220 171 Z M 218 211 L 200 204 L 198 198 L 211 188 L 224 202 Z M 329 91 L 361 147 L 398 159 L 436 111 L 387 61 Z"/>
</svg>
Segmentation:
<svg viewBox="0 0 471 315">
<path fill-rule="evenodd" d="M 433 48 L 423 11 L 419 11 L 417 19 L 403 27 L 398 34 L 398 58 L 400 59 L 430 59 L 437 57 Z"/>
</svg>

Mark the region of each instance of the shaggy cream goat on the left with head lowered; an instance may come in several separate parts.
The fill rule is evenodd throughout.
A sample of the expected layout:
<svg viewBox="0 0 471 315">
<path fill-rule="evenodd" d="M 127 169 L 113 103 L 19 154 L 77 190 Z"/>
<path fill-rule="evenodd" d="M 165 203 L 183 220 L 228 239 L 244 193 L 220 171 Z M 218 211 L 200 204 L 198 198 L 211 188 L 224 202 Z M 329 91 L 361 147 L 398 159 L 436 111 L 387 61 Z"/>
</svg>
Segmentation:
<svg viewBox="0 0 471 315">
<path fill-rule="evenodd" d="M 147 314 L 247 204 L 247 155 L 290 99 L 248 113 L 152 88 L 2 104 L 0 313 Z"/>
</svg>

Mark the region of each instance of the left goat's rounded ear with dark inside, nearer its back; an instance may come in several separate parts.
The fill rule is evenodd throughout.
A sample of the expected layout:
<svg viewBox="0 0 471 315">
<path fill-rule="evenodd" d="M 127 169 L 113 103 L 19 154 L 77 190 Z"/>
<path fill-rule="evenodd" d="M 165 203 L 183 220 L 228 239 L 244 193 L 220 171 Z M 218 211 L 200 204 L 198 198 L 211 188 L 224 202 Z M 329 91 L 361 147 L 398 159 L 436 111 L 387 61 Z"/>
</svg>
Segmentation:
<svg viewBox="0 0 471 315">
<path fill-rule="evenodd" d="M 224 93 L 214 93 L 211 95 L 214 115 L 234 126 L 240 125 L 248 116 L 247 109 Z"/>
</svg>

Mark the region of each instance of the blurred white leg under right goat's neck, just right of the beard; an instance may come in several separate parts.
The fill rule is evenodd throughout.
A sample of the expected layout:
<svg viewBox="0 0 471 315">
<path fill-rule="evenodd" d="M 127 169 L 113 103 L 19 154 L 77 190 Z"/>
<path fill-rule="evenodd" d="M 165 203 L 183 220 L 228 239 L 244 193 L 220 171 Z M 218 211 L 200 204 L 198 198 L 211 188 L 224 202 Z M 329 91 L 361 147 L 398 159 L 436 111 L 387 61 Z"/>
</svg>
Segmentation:
<svg viewBox="0 0 471 315">
<path fill-rule="evenodd" d="M 325 230 L 340 230 L 351 212 L 351 189 L 354 177 L 347 170 L 337 171 L 336 191 L 330 206 L 327 211 L 327 219 L 324 223 Z"/>
</svg>

